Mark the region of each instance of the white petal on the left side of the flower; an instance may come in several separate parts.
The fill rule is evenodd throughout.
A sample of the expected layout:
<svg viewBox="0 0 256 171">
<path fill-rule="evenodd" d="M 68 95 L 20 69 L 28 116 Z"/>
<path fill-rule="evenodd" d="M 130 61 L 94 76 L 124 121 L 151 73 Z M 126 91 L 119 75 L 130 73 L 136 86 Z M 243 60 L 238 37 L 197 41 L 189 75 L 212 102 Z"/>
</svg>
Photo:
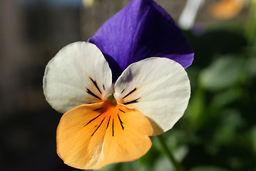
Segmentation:
<svg viewBox="0 0 256 171">
<path fill-rule="evenodd" d="M 43 77 L 46 100 L 61 113 L 106 99 L 111 86 L 111 69 L 106 59 L 93 43 L 87 42 L 62 48 L 49 61 Z"/>
</svg>

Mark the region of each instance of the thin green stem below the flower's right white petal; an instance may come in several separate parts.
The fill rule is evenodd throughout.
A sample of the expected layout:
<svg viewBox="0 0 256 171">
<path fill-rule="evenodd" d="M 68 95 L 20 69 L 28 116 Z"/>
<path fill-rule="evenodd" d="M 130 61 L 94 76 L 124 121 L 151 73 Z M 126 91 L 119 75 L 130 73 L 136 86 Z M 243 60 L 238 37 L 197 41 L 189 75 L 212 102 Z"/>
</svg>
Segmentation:
<svg viewBox="0 0 256 171">
<path fill-rule="evenodd" d="M 176 171 L 185 171 L 184 167 L 182 165 L 180 165 L 180 163 L 178 163 L 175 158 L 173 157 L 172 152 L 170 152 L 170 150 L 168 149 L 165 140 L 163 139 L 162 135 L 158 135 L 158 140 L 160 141 L 160 144 L 163 147 L 163 150 L 165 150 L 166 155 L 168 155 L 168 158 L 170 159 L 170 162 L 173 164 L 173 167 Z"/>
</svg>

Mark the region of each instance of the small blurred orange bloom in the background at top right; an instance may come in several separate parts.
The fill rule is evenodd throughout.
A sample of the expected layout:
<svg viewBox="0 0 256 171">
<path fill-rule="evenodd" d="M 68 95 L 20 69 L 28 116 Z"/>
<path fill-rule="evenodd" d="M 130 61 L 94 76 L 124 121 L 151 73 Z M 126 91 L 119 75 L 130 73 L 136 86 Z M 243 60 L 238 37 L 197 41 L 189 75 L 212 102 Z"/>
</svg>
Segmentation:
<svg viewBox="0 0 256 171">
<path fill-rule="evenodd" d="M 211 4 L 210 14 L 216 19 L 232 19 L 242 9 L 244 0 L 222 0 Z"/>
</svg>

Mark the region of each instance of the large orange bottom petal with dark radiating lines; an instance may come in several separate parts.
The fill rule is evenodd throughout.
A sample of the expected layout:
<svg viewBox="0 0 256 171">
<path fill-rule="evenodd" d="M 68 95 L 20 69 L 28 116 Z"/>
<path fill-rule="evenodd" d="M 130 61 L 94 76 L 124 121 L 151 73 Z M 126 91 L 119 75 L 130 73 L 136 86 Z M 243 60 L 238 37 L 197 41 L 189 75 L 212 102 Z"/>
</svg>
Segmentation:
<svg viewBox="0 0 256 171">
<path fill-rule="evenodd" d="M 153 134 L 149 121 L 125 105 L 80 105 L 65 113 L 57 129 L 57 153 L 72 167 L 98 170 L 145 155 Z"/>
</svg>

